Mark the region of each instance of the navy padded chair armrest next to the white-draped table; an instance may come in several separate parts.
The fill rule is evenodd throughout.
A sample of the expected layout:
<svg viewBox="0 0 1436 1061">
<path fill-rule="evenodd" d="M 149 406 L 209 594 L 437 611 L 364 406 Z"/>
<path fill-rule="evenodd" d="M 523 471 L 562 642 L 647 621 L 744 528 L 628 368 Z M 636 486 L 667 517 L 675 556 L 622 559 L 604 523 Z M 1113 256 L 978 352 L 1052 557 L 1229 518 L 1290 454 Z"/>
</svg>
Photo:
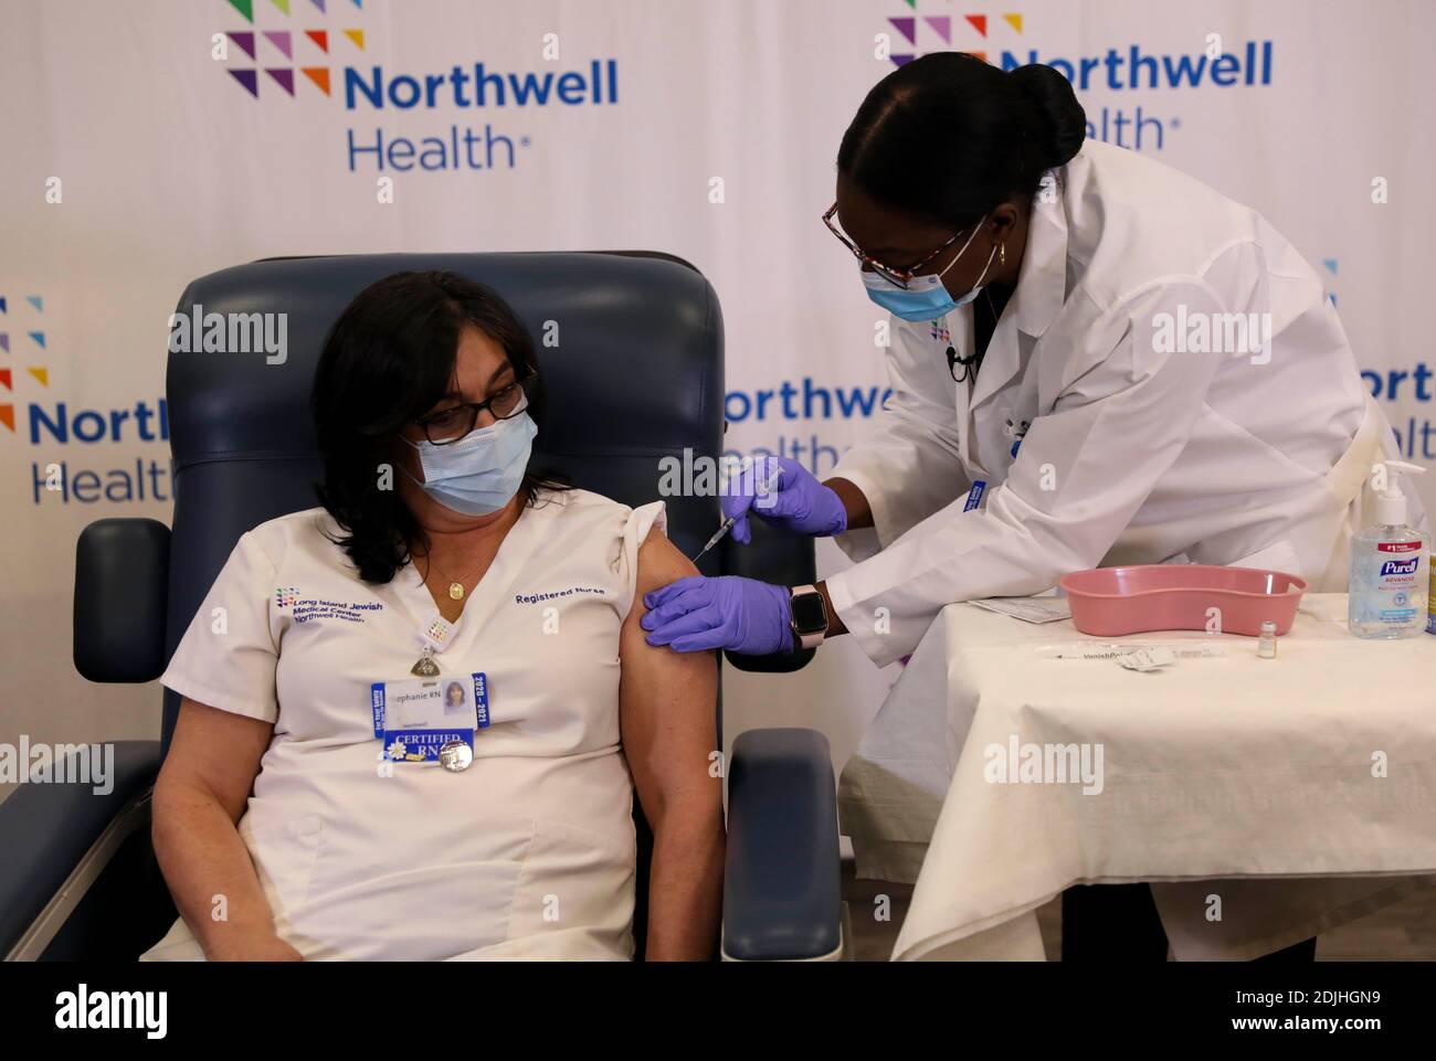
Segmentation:
<svg viewBox="0 0 1436 1061">
<path fill-rule="evenodd" d="M 724 958 L 837 956 L 839 859 L 827 738 L 813 729 L 740 734 L 728 768 Z"/>
</svg>

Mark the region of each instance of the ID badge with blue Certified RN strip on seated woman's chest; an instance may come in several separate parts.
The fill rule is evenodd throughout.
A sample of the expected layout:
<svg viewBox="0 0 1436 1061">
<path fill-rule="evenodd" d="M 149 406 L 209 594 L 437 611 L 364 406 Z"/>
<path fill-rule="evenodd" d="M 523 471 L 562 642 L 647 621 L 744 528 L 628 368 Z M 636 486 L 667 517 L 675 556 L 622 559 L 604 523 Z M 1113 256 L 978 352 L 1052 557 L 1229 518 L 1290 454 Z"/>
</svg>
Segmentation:
<svg viewBox="0 0 1436 1061">
<path fill-rule="evenodd" d="M 472 761 L 474 731 L 488 728 L 488 676 L 482 672 L 467 678 L 375 682 L 369 698 L 373 735 L 383 741 L 389 762 L 467 767 Z"/>
</svg>

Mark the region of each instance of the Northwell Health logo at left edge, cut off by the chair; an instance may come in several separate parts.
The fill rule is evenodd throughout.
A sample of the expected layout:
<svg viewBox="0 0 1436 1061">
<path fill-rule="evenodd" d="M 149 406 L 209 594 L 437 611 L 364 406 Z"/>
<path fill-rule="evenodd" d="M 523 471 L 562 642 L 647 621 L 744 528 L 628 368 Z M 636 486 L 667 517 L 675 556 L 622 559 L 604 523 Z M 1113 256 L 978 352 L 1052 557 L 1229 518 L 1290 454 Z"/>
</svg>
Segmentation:
<svg viewBox="0 0 1436 1061">
<path fill-rule="evenodd" d="M 55 332 L 46 323 L 49 309 L 43 294 L 0 291 L 0 441 L 34 451 L 24 477 L 30 501 L 90 505 L 172 500 L 168 459 L 126 457 L 113 462 L 103 457 L 115 447 L 167 445 L 165 399 L 92 409 L 57 396 L 47 363 L 55 347 Z M 9 491 L 14 488 L 6 485 L 3 504 L 11 504 Z"/>
</svg>

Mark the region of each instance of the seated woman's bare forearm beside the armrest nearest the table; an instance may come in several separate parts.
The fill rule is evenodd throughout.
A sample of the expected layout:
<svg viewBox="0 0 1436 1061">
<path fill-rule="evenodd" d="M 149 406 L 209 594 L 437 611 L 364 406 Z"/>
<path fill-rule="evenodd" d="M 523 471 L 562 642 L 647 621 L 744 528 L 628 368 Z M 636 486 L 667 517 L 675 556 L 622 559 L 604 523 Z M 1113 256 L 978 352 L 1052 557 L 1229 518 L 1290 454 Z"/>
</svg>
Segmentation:
<svg viewBox="0 0 1436 1061">
<path fill-rule="evenodd" d="M 708 793 L 669 797 L 653 826 L 648 887 L 651 962 L 712 959 L 722 920 L 722 807 Z"/>
</svg>

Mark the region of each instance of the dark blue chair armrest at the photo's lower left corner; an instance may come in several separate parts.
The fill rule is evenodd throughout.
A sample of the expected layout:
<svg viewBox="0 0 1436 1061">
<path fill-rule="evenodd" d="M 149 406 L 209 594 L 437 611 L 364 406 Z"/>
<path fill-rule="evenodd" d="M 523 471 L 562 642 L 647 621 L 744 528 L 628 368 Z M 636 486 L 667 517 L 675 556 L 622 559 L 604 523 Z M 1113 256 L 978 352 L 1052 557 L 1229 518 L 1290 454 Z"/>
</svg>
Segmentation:
<svg viewBox="0 0 1436 1061">
<path fill-rule="evenodd" d="M 6 871 L 0 873 L 3 955 L 11 955 L 17 945 L 26 942 L 26 935 L 42 915 L 52 913 L 47 909 L 52 903 L 57 910 L 62 906 L 73 909 L 79 903 L 83 890 L 103 869 L 103 859 L 125 838 L 115 834 L 112 823 L 136 801 L 148 800 L 155 784 L 159 772 L 158 741 L 116 741 L 95 747 L 115 749 L 112 768 L 103 778 L 109 791 L 95 793 L 93 780 L 65 784 L 27 781 L 0 803 L 0 851 L 4 851 L 6 861 Z M 72 764 L 78 761 L 78 755 L 66 758 L 66 777 L 93 777 L 73 770 Z M 22 764 L 22 770 L 27 765 Z M 92 851 L 98 864 L 86 866 L 85 873 L 76 876 L 76 869 Z M 76 879 L 72 880 L 72 876 Z M 62 896 L 62 892 L 66 894 Z M 52 925 L 49 935 L 57 927 L 57 923 Z M 39 940 L 40 946 L 43 942 Z"/>
</svg>

